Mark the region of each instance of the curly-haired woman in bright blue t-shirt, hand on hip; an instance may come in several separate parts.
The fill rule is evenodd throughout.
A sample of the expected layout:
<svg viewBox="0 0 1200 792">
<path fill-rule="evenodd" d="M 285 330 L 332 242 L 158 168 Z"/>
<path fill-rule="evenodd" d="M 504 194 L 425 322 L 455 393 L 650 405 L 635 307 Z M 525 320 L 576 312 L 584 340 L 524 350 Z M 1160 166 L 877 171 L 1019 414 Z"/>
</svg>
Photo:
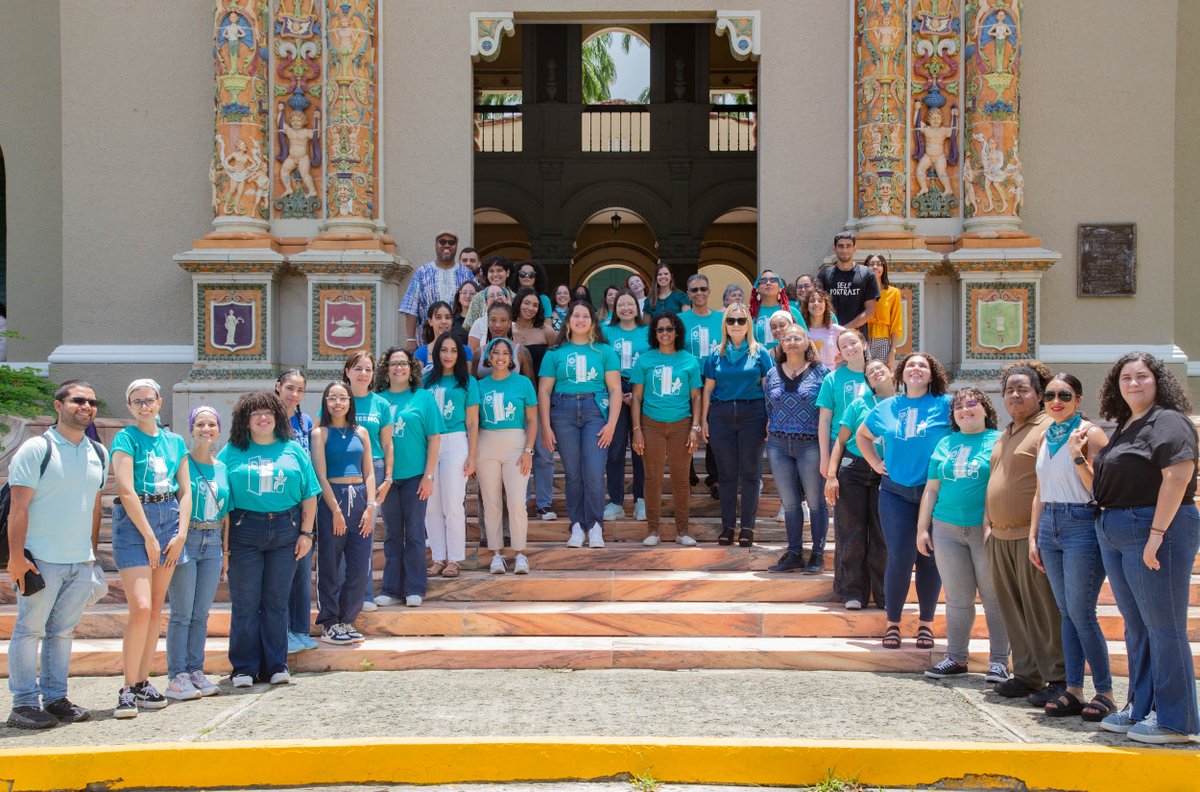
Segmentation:
<svg viewBox="0 0 1200 792">
<path fill-rule="evenodd" d="M 950 433 L 950 395 L 946 370 L 937 358 L 923 353 L 906 356 L 896 366 L 896 396 L 886 398 L 858 427 L 858 450 L 882 476 L 880 523 L 888 545 L 888 566 L 883 575 L 888 626 L 884 649 L 900 648 L 900 614 L 917 569 L 917 600 L 920 624 L 917 648 L 934 648 L 934 613 L 942 578 L 929 556 L 917 553 L 917 518 L 929 476 L 929 460 L 943 437 Z M 875 440 L 883 440 L 880 457 Z"/>
</svg>

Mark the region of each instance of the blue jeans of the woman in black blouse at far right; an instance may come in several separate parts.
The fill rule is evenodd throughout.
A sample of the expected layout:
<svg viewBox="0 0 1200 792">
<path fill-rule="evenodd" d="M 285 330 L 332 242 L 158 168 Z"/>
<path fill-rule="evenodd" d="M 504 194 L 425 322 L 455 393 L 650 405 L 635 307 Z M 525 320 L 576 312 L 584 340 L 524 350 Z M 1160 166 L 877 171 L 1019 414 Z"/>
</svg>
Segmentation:
<svg viewBox="0 0 1200 792">
<path fill-rule="evenodd" d="M 1188 592 L 1200 548 L 1200 512 L 1180 506 L 1158 548 L 1160 569 L 1141 563 L 1154 506 L 1105 509 L 1096 522 L 1100 557 L 1124 618 L 1133 718 L 1151 710 L 1158 725 L 1181 734 L 1200 732 L 1196 680 L 1188 646 Z"/>
</svg>

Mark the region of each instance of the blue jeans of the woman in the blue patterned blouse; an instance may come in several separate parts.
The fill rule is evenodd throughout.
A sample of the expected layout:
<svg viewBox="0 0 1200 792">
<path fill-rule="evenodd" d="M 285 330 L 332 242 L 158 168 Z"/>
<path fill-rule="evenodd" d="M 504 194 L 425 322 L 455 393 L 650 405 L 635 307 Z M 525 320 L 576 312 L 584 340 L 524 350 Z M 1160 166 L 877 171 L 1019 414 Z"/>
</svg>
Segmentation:
<svg viewBox="0 0 1200 792">
<path fill-rule="evenodd" d="M 804 552 L 804 509 L 800 502 L 808 500 L 812 552 L 823 553 L 829 534 L 829 510 L 821 476 L 821 446 L 816 440 L 772 434 L 767 438 L 767 458 L 770 460 L 770 474 L 775 478 L 779 499 L 784 502 L 787 552 Z"/>
</svg>

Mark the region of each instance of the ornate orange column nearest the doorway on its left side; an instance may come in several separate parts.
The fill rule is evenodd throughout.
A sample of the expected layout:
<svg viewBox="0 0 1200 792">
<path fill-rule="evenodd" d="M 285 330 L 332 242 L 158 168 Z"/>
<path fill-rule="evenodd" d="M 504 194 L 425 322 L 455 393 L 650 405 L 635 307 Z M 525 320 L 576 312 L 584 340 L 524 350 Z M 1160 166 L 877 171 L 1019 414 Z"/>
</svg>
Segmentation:
<svg viewBox="0 0 1200 792">
<path fill-rule="evenodd" d="M 377 0 L 326 0 L 325 236 L 366 239 L 379 215 Z"/>
</svg>

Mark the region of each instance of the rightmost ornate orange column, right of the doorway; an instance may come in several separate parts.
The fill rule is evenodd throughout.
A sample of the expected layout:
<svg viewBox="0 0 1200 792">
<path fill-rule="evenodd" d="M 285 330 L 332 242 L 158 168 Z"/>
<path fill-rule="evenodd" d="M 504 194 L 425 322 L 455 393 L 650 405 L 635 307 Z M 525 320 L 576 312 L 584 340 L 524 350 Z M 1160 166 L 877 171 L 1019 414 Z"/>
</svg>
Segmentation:
<svg viewBox="0 0 1200 792">
<path fill-rule="evenodd" d="M 964 25 L 964 234 L 1022 238 L 1021 2 L 966 0 Z"/>
</svg>

